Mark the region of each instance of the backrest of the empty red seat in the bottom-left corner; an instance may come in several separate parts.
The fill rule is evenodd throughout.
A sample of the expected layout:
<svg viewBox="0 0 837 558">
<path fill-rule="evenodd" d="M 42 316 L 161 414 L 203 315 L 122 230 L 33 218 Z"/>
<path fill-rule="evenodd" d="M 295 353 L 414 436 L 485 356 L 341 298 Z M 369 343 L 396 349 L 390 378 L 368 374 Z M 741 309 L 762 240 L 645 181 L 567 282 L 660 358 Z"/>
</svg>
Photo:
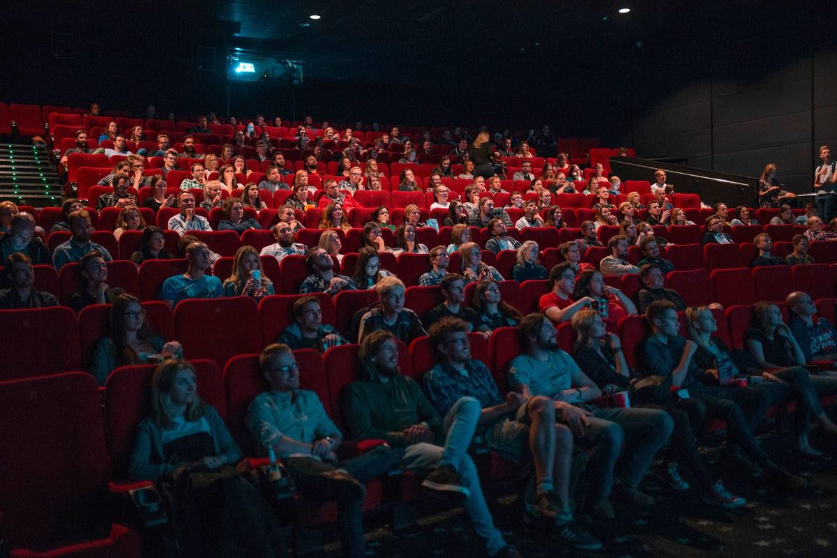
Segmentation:
<svg viewBox="0 0 837 558">
<path fill-rule="evenodd" d="M 3 535 L 11 549 L 43 548 L 62 520 L 101 503 L 94 495 L 109 478 L 110 459 L 99 390 L 90 374 L 70 372 L 0 381 L 0 401 Z"/>
</svg>

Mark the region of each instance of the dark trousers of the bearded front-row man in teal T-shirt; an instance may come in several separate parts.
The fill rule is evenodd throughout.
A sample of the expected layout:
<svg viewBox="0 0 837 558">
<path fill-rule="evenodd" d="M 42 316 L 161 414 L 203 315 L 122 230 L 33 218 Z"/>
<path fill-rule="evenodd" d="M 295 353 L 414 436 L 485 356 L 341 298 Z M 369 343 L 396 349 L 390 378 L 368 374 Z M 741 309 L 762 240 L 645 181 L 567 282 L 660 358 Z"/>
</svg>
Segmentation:
<svg viewBox="0 0 837 558">
<path fill-rule="evenodd" d="M 619 479 L 635 489 L 674 429 L 669 414 L 658 409 L 598 409 L 589 420 L 588 433 L 598 435 L 588 463 L 590 479 L 593 479 L 591 494 L 596 498 L 607 497 L 613 488 L 614 466 L 623 443 L 626 447 Z"/>
</svg>

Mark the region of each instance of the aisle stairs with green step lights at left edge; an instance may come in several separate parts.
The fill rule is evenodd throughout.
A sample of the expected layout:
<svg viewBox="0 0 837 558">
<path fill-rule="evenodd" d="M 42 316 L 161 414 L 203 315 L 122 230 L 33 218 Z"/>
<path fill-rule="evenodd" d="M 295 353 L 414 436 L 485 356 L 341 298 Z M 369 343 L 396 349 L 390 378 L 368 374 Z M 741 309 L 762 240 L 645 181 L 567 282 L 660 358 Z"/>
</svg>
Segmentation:
<svg viewBox="0 0 837 558">
<path fill-rule="evenodd" d="M 0 143 L 0 200 L 18 205 L 61 205 L 62 182 L 46 147 Z"/>
</svg>

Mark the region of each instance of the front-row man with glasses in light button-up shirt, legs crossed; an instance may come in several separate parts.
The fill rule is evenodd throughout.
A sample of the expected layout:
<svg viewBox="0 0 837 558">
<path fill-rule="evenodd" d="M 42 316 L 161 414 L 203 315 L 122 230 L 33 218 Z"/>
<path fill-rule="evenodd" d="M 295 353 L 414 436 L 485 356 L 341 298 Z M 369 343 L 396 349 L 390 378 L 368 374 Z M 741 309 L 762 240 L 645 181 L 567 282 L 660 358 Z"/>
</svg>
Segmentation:
<svg viewBox="0 0 837 558">
<path fill-rule="evenodd" d="M 270 390 L 256 396 L 247 409 L 250 435 L 263 455 L 283 460 L 302 494 L 337 502 L 343 555 L 364 555 L 364 484 L 393 466 L 393 451 L 380 445 L 338 462 L 340 430 L 316 393 L 300 389 L 300 369 L 290 347 L 265 347 L 259 367 Z"/>
</svg>

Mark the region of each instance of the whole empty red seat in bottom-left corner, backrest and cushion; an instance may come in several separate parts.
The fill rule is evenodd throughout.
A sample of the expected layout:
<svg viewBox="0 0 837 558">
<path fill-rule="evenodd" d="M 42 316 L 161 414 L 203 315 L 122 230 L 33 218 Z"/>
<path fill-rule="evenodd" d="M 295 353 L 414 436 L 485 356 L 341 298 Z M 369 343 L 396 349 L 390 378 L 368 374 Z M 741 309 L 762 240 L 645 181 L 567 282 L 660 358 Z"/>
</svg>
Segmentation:
<svg viewBox="0 0 837 558">
<path fill-rule="evenodd" d="M 100 494 L 111 463 L 93 376 L 0 382 L 0 400 L 0 443 L 7 448 L 0 511 L 10 555 L 139 558 L 140 535 L 112 523 Z"/>
</svg>

